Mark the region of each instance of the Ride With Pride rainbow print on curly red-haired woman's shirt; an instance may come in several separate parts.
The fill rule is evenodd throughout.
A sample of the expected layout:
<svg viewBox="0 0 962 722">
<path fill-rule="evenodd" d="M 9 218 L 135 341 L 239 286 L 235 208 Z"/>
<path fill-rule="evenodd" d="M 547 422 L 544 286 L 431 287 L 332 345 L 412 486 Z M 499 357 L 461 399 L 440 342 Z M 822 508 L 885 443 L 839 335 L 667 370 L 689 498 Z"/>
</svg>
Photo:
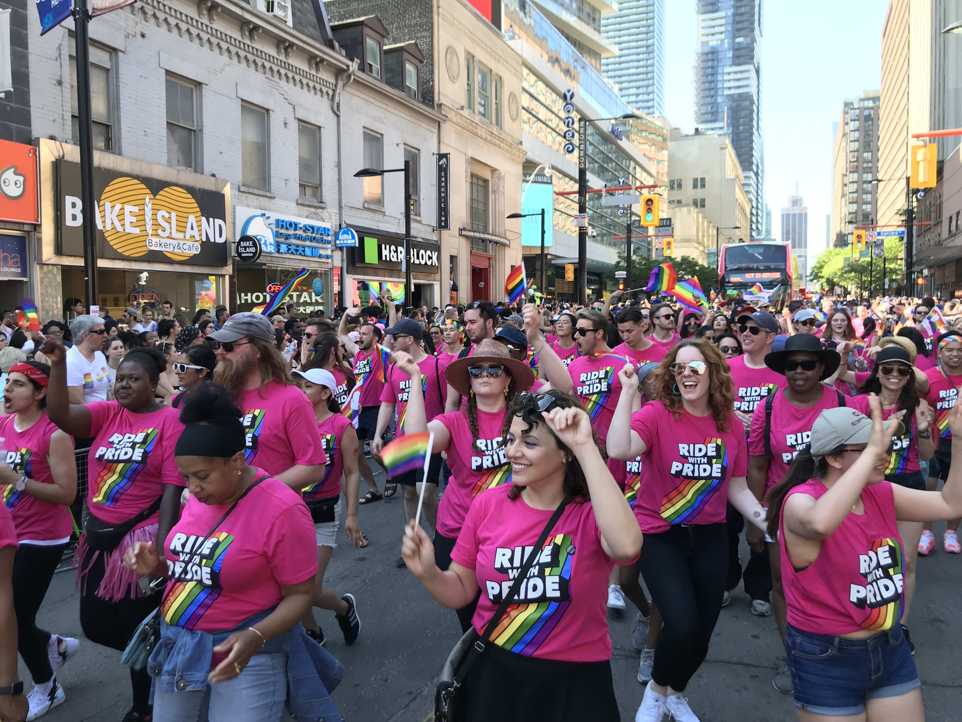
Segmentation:
<svg viewBox="0 0 962 722">
<path fill-rule="evenodd" d="M 721 438 L 705 439 L 704 444 L 679 444 L 682 451 L 702 451 L 704 453 L 684 453 L 688 458 L 671 462 L 671 475 L 681 477 L 680 483 L 665 495 L 662 500 L 661 516 L 669 524 L 689 524 L 722 487 L 728 469 L 728 451 Z M 710 457 L 710 463 L 696 459 Z M 707 473 L 704 473 L 707 472 Z"/>
</svg>

